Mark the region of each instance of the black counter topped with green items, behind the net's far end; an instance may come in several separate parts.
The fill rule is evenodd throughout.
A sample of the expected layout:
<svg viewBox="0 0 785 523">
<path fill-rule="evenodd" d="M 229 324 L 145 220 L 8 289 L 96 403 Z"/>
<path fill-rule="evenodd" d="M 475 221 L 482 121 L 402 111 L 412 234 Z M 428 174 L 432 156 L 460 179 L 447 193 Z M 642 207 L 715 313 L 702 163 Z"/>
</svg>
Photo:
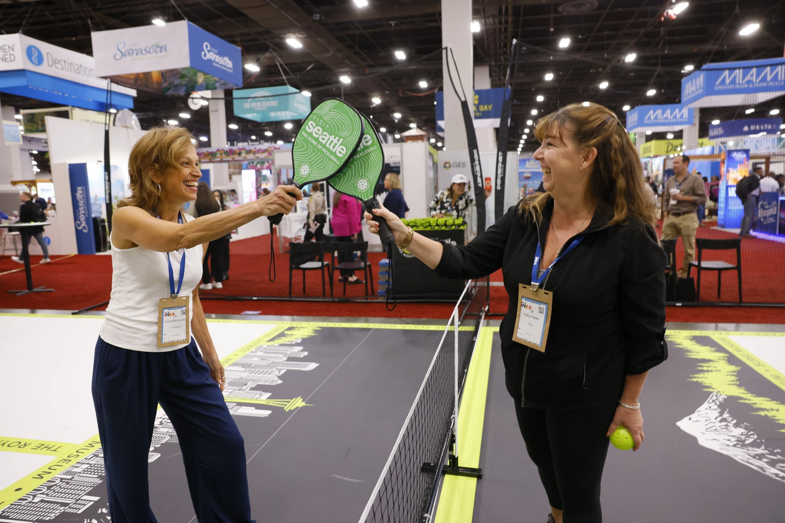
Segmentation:
<svg viewBox="0 0 785 523">
<path fill-rule="evenodd" d="M 452 245 L 464 245 L 465 229 L 446 231 L 417 231 L 425 238 L 436 242 L 449 242 Z M 440 278 L 433 270 L 411 254 L 401 252 L 393 245 L 392 248 L 392 286 L 396 299 L 406 300 L 458 300 L 466 282 L 451 278 Z"/>
</svg>

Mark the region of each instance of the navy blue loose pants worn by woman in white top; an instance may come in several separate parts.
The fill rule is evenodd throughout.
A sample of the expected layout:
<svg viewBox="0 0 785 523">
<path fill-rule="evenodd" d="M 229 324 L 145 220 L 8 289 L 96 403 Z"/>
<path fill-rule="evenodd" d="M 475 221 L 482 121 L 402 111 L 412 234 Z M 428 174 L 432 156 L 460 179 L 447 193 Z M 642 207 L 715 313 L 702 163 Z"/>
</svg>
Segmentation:
<svg viewBox="0 0 785 523">
<path fill-rule="evenodd" d="M 157 523 L 148 452 L 159 403 L 177 431 L 199 523 L 254 523 L 243 436 L 193 339 L 181 349 L 142 352 L 99 337 L 93 402 L 112 523 Z"/>
</svg>

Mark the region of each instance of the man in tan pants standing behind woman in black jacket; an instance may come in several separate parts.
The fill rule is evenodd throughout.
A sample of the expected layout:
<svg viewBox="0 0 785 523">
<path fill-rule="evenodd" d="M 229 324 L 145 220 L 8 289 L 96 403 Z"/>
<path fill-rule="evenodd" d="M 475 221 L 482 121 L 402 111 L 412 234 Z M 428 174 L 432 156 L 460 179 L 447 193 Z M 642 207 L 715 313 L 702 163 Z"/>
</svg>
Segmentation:
<svg viewBox="0 0 785 523">
<path fill-rule="evenodd" d="M 698 206 L 706 203 L 703 178 L 690 173 L 689 157 L 674 157 L 674 174 L 663 190 L 663 240 L 681 236 L 685 258 L 678 275 L 687 276 L 689 263 L 695 260 L 695 233 L 698 229 Z"/>
</svg>

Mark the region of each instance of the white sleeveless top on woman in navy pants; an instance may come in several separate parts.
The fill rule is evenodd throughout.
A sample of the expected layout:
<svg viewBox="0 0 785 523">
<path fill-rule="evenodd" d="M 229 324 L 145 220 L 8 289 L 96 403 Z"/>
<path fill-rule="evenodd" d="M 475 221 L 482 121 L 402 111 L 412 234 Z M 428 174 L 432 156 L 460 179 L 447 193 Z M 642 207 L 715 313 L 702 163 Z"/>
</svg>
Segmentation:
<svg viewBox="0 0 785 523">
<path fill-rule="evenodd" d="M 183 212 L 185 221 L 195 220 Z M 115 347 L 144 352 L 166 352 L 185 347 L 173 345 L 158 347 L 158 300 L 168 298 L 169 265 L 166 263 L 166 252 L 157 252 L 144 247 L 133 249 L 117 249 L 111 243 L 111 297 L 106 308 L 104 325 L 99 335 L 106 343 Z M 170 252 L 172 271 L 174 273 L 174 289 L 177 289 L 180 276 L 180 260 L 183 252 Z M 180 296 L 191 296 L 191 321 L 193 317 L 192 292 L 202 280 L 202 245 L 185 249 L 185 274 Z"/>
</svg>

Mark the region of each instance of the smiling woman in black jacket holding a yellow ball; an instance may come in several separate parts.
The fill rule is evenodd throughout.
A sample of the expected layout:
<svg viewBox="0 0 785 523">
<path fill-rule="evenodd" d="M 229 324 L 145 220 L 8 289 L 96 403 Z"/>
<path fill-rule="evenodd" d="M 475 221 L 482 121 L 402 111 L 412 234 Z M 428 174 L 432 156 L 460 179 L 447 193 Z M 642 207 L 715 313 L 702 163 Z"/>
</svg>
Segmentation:
<svg viewBox="0 0 785 523">
<path fill-rule="evenodd" d="M 386 209 L 374 212 L 437 274 L 503 269 L 506 386 L 549 521 L 599 523 L 608 435 L 623 425 L 633 450 L 641 447 L 638 398 L 648 370 L 667 358 L 666 256 L 640 159 L 612 111 L 571 104 L 542 118 L 535 136 L 547 192 L 521 200 L 469 245 L 434 242 Z"/>
</svg>

